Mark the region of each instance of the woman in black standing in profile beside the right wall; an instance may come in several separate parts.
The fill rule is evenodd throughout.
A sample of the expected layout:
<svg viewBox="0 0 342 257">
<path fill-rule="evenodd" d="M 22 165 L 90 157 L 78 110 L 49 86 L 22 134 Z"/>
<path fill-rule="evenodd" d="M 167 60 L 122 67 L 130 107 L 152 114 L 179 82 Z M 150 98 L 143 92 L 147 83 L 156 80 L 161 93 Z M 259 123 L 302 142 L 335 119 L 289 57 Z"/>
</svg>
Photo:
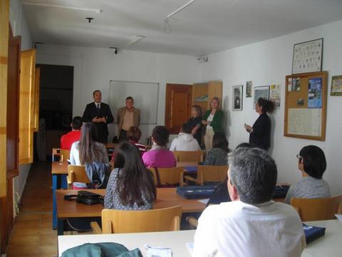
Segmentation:
<svg viewBox="0 0 342 257">
<path fill-rule="evenodd" d="M 267 113 L 274 111 L 274 102 L 259 98 L 255 104 L 255 111 L 259 118 L 254 122 L 253 127 L 244 124 L 244 129 L 249 133 L 249 143 L 264 150 L 271 146 L 271 121 Z"/>
</svg>

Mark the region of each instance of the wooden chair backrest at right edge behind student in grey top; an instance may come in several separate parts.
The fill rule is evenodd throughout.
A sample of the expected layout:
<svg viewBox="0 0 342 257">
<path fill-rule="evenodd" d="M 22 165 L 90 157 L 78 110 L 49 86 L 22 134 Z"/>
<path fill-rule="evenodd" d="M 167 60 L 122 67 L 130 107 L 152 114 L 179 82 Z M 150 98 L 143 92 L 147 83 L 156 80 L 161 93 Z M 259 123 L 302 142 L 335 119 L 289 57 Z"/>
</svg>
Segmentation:
<svg viewBox="0 0 342 257">
<path fill-rule="evenodd" d="M 330 198 L 292 198 L 301 221 L 321 221 L 336 218 L 334 214 L 342 212 L 342 195 Z"/>
</svg>

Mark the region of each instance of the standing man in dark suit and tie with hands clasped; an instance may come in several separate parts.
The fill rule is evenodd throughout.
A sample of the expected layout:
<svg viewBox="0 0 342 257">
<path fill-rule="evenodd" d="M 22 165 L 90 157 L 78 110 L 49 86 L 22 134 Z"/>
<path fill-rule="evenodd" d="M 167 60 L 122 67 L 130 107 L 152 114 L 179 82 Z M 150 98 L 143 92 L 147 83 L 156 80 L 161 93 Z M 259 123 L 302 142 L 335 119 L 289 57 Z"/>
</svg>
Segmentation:
<svg viewBox="0 0 342 257">
<path fill-rule="evenodd" d="M 98 129 L 98 141 L 101 143 L 108 142 L 108 126 L 114 121 L 113 114 L 108 104 L 102 103 L 102 94 L 100 90 L 93 92 L 94 102 L 87 104 L 83 113 L 84 122 L 93 122 Z"/>
</svg>

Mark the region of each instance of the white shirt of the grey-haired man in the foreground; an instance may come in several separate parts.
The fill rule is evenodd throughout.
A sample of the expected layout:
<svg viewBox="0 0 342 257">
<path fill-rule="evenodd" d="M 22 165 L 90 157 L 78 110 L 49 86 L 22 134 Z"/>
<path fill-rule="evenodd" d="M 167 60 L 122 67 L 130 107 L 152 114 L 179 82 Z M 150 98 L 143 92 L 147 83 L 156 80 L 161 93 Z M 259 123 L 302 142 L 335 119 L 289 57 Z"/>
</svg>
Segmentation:
<svg viewBox="0 0 342 257">
<path fill-rule="evenodd" d="M 204 210 L 192 256 L 301 256 L 305 245 L 301 219 L 292 206 L 232 201 Z"/>
</svg>

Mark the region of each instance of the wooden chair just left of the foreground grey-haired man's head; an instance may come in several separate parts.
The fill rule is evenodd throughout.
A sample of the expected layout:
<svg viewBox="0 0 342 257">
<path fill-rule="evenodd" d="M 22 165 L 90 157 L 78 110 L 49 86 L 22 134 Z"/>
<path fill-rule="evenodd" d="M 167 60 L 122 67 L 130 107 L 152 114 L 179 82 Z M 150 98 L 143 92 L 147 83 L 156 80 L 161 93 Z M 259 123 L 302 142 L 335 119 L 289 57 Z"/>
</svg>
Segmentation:
<svg viewBox="0 0 342 257">
<path fill-rule="evenodd" d="M 197 166 L 197 178 L 185 176 L 185 181 L 192 181 L 203 186 L 204 182 L 223 182 L 228 166 Z"/>
</svg>

